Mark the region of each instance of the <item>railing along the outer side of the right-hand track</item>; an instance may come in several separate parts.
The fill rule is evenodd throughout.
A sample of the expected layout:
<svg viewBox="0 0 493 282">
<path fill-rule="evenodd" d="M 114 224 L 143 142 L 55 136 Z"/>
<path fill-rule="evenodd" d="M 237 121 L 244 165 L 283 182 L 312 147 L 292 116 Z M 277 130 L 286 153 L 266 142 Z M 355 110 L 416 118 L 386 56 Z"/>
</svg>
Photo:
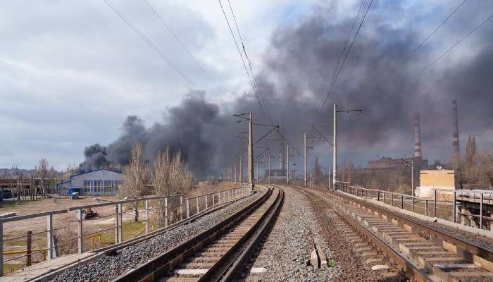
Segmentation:
<svg viewBox="0 0 493 282">
<path fill-rule="evenodd" d="M 398 207 L 410 212 L 416 212 L 423 214 L 424 216 L 433 216 L 454 223 L 461 223 L 461 216 L 467 218 L 476 218 L 479 223 L 477 227 L 480 229 L 488 229 L 487 226 L 483 228 L 484 222 L 493 221 L 492 218 L 485 216 L 483 204 L 485 200 L 488 204 L 493 204 L 493 191 L 489 190 L 443 190 L 433 189 L 432 198 L 417 197 L 413 195 L 406 195 L 397 192 L 390 192 L 386 190 L 367 189 L 358 186 L 351 186 L 347 182 L 336 181 L 335 190 L 347 192 L 351 195 L 355 195 L 361 198 L 377 200 L 384 202 L 392 207 Z M 440 193 L 448 194 L 447 197 L 451 200 L 439 200 Z M 470 214 L 462 212 L 458 208 L 460 202 L 475 202 L 480 205 L 479 214 Z"/>
</svg>

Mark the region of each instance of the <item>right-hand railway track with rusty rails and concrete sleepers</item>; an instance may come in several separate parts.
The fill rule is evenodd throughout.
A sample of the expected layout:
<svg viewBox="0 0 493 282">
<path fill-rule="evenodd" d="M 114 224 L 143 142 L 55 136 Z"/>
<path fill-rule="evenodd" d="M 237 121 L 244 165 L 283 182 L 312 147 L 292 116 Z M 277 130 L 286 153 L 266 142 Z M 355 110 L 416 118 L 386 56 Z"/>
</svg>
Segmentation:
<svg viewBox="0 0 493 282">
<path fill-rule="evenodd" d="M 297 188 L 330 205 L 367 262 L 397 266 L 411 281 L 493 281 L 492 249 L 342 192 Z"/>
</svg>

